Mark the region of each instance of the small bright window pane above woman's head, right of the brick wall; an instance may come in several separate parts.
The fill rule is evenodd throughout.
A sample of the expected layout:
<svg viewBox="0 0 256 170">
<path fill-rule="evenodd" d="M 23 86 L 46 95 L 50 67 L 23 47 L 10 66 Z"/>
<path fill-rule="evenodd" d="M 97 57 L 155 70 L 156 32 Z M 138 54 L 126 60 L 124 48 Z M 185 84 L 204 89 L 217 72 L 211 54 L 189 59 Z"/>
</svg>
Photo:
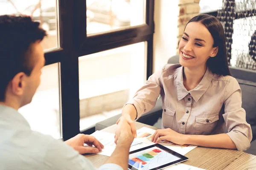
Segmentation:
<svg viewBox="0 0 256 170">
<path fill-rule="evenodd" d="M 218 9 L 221 9 L 222 0 L 200 0 L 199 6 L 200 6 L 199 13 L 216 11 Z"/>
</svg>

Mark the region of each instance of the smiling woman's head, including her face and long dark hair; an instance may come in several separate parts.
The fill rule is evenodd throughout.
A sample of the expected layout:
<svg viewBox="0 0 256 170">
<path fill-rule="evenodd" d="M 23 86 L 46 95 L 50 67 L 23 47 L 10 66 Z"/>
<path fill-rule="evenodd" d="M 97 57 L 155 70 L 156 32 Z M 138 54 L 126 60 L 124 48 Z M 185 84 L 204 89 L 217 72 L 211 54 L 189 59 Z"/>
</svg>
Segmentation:
<svg viewBox="0 0 256 170">
<path fill-rule="evenodd" d="M 209 22 L 211 18 L 211 22 Z M 197 28 L 197 29 L 195 29 Z M 190 36 L 190 37 L 189 37 Z M 199 15 L 192 18 L 186 25 L 179 44 L 180 64 L 184 67 L 196 66 L 204 72 L 207 67 L 214 74 L 230 75 L 227 64 L 224 30 L 215 17 Z M 192 56 L 191 57 L 184 57 Z M 191 60 L 191 62 L 184 62 Z M 216 67 L 218 65 L 218 67 Z"/>
</svg>

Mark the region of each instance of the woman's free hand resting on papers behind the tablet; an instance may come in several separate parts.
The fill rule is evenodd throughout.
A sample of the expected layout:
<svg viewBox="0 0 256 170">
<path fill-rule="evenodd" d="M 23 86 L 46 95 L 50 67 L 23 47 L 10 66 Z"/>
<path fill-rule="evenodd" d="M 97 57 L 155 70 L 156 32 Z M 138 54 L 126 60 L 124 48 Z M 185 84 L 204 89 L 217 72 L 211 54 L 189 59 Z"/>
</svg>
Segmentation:
<svg viewBox="0 0 256 170">
<path fill-rule="evenodd" d="M 158 129 L 152 136 L 151 142 L 159 143 L 162 140 L 168 140 L 175 144 L 186 144 L 186 135 L 175 132 L 174 130 L 167 129 Z"/>
</svg>

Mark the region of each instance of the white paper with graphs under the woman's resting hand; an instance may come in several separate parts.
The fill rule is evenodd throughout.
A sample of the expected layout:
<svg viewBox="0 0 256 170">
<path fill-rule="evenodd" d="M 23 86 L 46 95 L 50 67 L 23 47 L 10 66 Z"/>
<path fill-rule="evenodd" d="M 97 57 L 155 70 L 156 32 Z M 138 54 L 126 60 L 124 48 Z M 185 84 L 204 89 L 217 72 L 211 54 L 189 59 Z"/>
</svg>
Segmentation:
<svg viewBox="0 0 256 170">
<path fill-rule="evenodd" d="M 137 130 L 137 138 L 141 138 L 139 141 L 143 143 L 148 143 L 148 144 L 154 144 L 154 142 L 151 142 L 152 136 L 155 133 L 156 130 L 150 129 L 148 127 L 142 127 L 139 130 Z M 181 155 L 185 155 L 189 151 L 195 149 L 197 146 L 190 145 L 190 144 L 183 144 L 183 145 L 178 145 L 169 141 L 161 141 L 159 144 L 177 152 L 180 153 Z"/>
</svg>

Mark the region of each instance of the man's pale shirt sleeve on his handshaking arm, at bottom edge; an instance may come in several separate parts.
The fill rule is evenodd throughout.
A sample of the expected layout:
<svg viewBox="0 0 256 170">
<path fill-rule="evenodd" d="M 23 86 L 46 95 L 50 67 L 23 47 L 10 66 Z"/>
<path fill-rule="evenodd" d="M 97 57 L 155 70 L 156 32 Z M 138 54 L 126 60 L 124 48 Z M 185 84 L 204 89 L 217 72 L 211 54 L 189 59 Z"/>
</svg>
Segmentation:
<svg viewBox="0 0 256 170">
<path fill-rule="evenodd" d="M 44 163 L 52 170 L 98 170 L 72 147 L 57 140 L 49 144 Z M 122 170 L 122 167 L 117 164 L 104 164 L 99 170 Z"/>
</svg>

